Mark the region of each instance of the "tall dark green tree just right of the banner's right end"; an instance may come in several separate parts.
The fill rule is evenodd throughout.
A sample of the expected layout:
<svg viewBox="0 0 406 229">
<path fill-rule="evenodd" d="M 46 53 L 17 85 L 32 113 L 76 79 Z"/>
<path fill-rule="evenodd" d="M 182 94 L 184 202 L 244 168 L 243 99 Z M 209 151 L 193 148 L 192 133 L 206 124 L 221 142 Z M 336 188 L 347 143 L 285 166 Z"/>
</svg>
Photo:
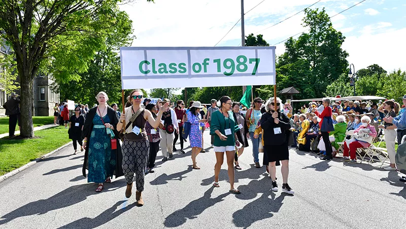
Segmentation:
<svg viewBox="0 0 406 229">
<path fill-rule="evenodd" d="M 302 25 L 310 30 L 296 40 L 291 37 L 286 41 L 277 70 L 287 76 L 285 87 L 296 84 L 295 88 L 306 97 L 321 97 L 328 85 L 348 72 L 348 53 L 341 48 L 345 36 L 333 28 L 324 8 L 304 12 Z"/>
</svg>

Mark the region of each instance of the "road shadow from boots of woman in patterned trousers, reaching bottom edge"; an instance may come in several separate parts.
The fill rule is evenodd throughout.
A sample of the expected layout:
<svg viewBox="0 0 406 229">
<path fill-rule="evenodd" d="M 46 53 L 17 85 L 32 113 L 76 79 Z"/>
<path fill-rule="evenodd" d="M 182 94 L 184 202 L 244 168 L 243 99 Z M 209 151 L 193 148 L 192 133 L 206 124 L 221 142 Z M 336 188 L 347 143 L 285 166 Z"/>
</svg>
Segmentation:
<svg viewBox="0 0 406 229">
<path fill-rule="evenodd" d="M 101 225 L 113 220 L 114 218 L 121 215 L 122 213 L 137 206 L 137 202 L 134 202 L 134 203 L 126 206 L 125 208 L 121 208 L 120 210 L 117 210 L 117 208 L 124 202 L 126 202 L 126 201 L 117 202 L 111 208 L 102 212 L 100 215 L 96 216 L 95 218 L 84 217 L 84 218 L 78 219 L 76 221 L 73 221 L 69 224 L 66 224 L 64 226 L 61 226 L 59 228 L 66 228 L 66 229 L 67 228 L 95 228 L 95 227 L 101 226 Z"/>
</svg>

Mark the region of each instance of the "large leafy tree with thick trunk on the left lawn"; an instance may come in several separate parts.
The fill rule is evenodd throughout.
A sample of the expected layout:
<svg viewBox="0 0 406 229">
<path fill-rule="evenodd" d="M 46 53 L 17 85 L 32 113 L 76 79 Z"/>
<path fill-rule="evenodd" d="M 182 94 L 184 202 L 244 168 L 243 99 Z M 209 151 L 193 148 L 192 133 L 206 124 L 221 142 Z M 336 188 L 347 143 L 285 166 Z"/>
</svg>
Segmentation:
<svg viewBox="0 0 406 229">
<path fill-rule="evenodd" d="M 147 0 L 150 1 L 150 0 Z M 121 27 L 119 0 L 0 0 L 0 36 L 10 43 L 21 91 L 31 92 L 40 68 L 55 65 L 54 77 L 80 79 L 107 34 Z M 60 50 L 64 50 L 62 55 Z M 58 55 L 59 54 L 59 55 Z M 32 93 L 21 93 L 21 136 L 32 137 Z"/>
</svg>

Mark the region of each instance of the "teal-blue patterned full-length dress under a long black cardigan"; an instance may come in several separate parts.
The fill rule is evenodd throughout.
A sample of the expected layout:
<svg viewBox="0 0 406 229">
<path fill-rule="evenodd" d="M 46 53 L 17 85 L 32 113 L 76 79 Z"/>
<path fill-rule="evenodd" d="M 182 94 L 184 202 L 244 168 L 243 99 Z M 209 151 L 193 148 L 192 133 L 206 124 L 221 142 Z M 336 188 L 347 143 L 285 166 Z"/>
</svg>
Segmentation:
<svg viewBox="0 0 406 229">
<path fill-rule="evenodd" d="M 103 117 L 105 123 L 110 123 L 109 116 Z M 89 174 L 87 182 L 103 183 L 107 177 L 113 178 L 116 161 L 111 158 L 111 141 L 106 128 L 97 114 L 93 118 L 93 130 L 89 144 Z"/>
</svg>

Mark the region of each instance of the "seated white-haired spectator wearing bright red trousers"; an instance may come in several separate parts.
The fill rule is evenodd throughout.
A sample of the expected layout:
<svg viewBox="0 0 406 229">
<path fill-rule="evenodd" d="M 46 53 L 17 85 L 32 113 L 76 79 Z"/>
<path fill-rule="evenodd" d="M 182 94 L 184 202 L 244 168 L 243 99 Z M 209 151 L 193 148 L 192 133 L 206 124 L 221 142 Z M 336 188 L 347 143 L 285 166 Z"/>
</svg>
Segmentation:
<svg viewBox="0 0 406 229">
<path fill-rule="evenodd" d="M 369 125 L 371 122 L 368 116 L 364 116 L 361 119 L 362 125 L 354 130 L 355 133 L 359 133 L 362 129 L 369 129 L 368 134 L 369 136 L 376 137 L 377 131 L 375 130 L 374 126 Z M 350 140 L 346 140 L 344 142 L 344 158 L 341 160 L 342 162 L 348 162 L 349 164 L 356 164 L 356 150 L 357 148 L 367 148 L 369 147 L 371 142 L 360 141 L 355 139 L 354 137 Z M 350 157 L 349 157 L 350 156 Z"/>
</svg>

